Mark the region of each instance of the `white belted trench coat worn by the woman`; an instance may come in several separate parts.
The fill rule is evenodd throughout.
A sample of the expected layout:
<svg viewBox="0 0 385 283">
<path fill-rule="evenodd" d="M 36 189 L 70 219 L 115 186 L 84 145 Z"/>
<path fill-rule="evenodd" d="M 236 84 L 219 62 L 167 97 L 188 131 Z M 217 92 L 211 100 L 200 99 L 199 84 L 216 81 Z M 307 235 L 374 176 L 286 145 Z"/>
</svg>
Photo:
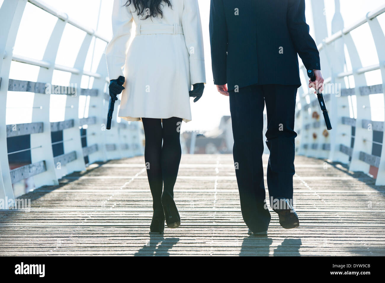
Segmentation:
<svg viewBox="0 0 385 283">
<path fill-rule="evenodd" d="M 162 2 L 163 17 L 146 20 L 126 2 L 114 0 L 113 38 L 105 52 L 109 79 L 126 79 L 118 116 L 191 121 L 189 90 L 206 83 L 198 0 L 170 0 L 172 8 Z"/>
</svg>

